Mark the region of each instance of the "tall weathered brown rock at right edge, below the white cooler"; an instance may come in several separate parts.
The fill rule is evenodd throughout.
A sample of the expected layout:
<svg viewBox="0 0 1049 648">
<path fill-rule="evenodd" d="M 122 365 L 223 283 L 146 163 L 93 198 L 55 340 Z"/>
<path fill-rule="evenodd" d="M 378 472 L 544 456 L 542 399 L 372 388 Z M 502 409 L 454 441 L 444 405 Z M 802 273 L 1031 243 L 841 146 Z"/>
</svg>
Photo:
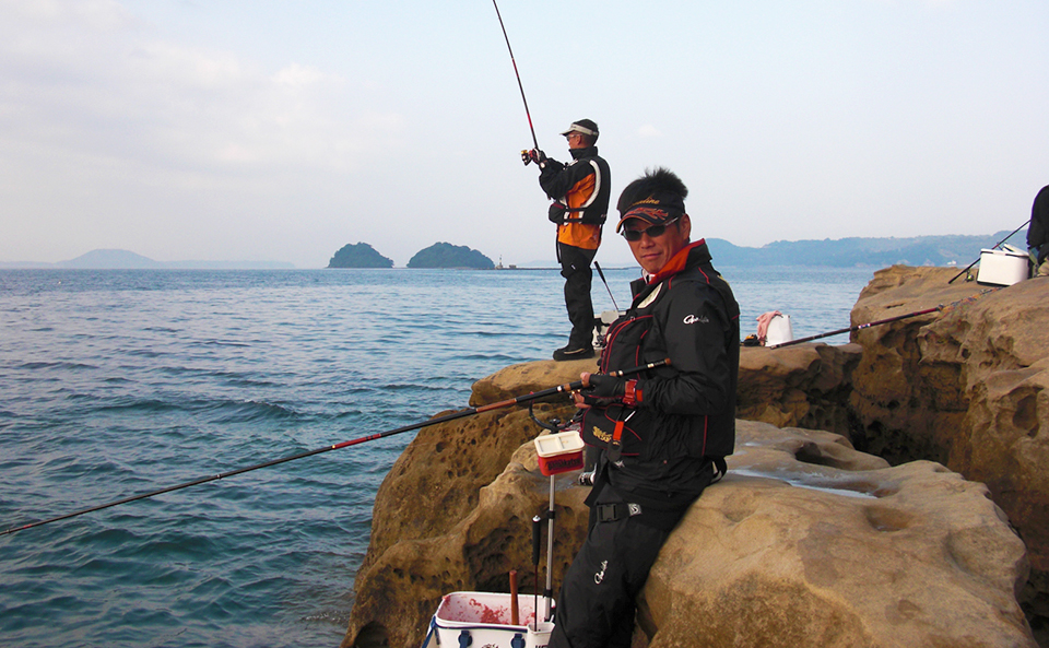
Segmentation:
<svg viewBox="0 0 1049 648">
<path fill-rule="evenodd" d="M 852 440 L 985 482 L 1027 544 L 1025 604 L 1049 616 L 1049 280 L 994 290 L 955 274 L 893 267 L 860 294 L 853 323 L 948 306 L 854 335 Z"/>
</svg>

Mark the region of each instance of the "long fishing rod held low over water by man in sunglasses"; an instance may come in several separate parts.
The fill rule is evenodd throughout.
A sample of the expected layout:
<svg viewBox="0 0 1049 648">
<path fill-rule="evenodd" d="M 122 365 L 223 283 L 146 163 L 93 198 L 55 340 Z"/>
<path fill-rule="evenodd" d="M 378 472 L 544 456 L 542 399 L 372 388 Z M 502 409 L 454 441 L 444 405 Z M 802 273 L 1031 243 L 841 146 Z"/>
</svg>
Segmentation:
<svg viewBox="0 0 1049 648">
<path fill-rule="evenodd" d="M 661 367 L 670 364 L 670 358 L 657 361 L 653 363 L 648 363 L 647 365 L 641 365 L 633 367 L 629 369 L 623 369 L 620 372 L 612 372 L 610 376 L 622 377 L 628 376 L 630 374 L 636 374 L 638 372 L 644 372 L 647 369 L 653 369 L 656 367 Z M 269 468 L 271 466 L 280 466 L 281 463 L 287 463 L 288 461 L 296 461 L 298 459 L 305 459 L 306 457 L 313 457 L 314 455 L 320 455 L 322 452 L 330 452 L 332 450 L 339 450 L 341 448 L 349 448 L 350 446 L 356 446 L 367 441 L 374 441 L 376 439 L 386 438 L 388 436 L 393 436 L 394 434 L 401 434 L 402 432 L 410 432 L 412 429 L 420 429 L 421 427 L 427 427 L 429 425 L 437 425 L 438 423 L 447 423 L 448 421 L 455 421 L 457 419 L 464 419 L 467 416 L 473 416 L 475 414 L 481 414 L 482 412 L 488 412 L 491 410 L 499 410 L 503 408 L 508 408 L 510 405 L 516 405 L 520 403 L 526 403 L 529 401 L 538 400 L 541 398 L 546 398 L 549 396 L 556 396 L 557 393 L 569 393 L 573 391 L 579 391 L 585 385 L 582 380 L 576 380 L 575 382 L 568 382 L 565 385 L 558 385 L 556 387 L 551 387 L 549 389 L 543 389 L 541 391 L 535 391 L 531 393 L 526 393 L 515 398 L 510 398 L 497 403 L 491 403 L 487 405 L 482 405 L 480 408 L 467 408 L 459 412 L 453 412 L 451 414 L 445 414 L 444 416 L 437 416 L 436 419 L 429 419 L 421 423 L 413 423 L 411 425 L 404 425 L 402 427 L 397 427 L 394 429 L 388 429 L 386 432 L 379 432 L 376 434 L 369 434 L 367 436 L 362 436 L 355 439 L 350 439 L 347 441 L 342 441 L 333 446 L 325 446 L 322 448 L 316 448 L 314 450 L 307 450 L 306 452 L 299 452 L 297 455 L 291 455 L 288 457 L 282 457 L 280 459 L 272 459 L 270 461 L 263 461 L 262 463 L 256 463 L 255 466 L 247 466 L 245 468 L 238 468 L 236 470 L 231 470 L 228 472 L 222 472 L 214 475 L 208 475 L 198 478 L 196 480 L 184 482 L 181 484 L 176 484 L 174 486 L 168 486 L 166 488 L 160 488 L 156 491 L 151 491 L 149 493 L 141 493 L 139 495 L 132 495 L 130 497 L 125 497 L 122 499 L 117 499 L 114 502 L 108 502 L 106 504 L 99 504 L 97 506 L 92 506 L 90 508 L 83 508 L 81 510 L 75 510 L 73 512 L 68 512 L 66 515 L 57 516 L 54 518 L 48 518 L 46 520 L 39 520 L 36 522 L 31 522 L 28 525 L 23 525 L 21 527 L 14 527 L 7 529 L 5 531 L 0 531 L 0 535 L 8 535 L 9 533 L 15 533 L 17 531 L 24 531 L 26 529 L 32 529 L 34 527 L 43 527 L 44 525 L 50 525 L 51 522 L 58 522 L 61 520 L 68 520 L 70 518 L 75 518 L 89 512 L 94 512 L 96 510 L 103 510 L 105 508 L 111 508 L 114 506 L 120 506 L 122 504 L 129 504 L 131 502 L 138 502 L 139 499 L 146 499 L 149 497 L 155 497 L 156 495 L 163 495 L 165 493 L 173 493 L 175 491 L 181 491 L 182 488 L 188 488 L 190 486 L 197 486 L 200 484 L 207 484 L 208 482 L 214 482 L 217 480 L 224 480 L 226 478 L 232 478 L 234 475 L 244 474 L 246 472 L 251 472 L 252 470 L 259 470 L 261 468 Z"/>
</svg>

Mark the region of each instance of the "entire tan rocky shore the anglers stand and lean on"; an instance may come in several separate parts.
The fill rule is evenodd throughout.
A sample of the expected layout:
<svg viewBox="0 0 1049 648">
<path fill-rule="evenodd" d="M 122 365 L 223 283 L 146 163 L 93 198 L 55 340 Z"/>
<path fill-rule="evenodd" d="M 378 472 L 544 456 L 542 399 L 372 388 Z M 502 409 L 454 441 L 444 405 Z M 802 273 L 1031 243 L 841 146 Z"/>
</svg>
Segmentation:
<svg viewBox="0 0 1049 648">
<path fill-rule="evenodd" d="M 876 272 L 853 326 L 940 308 L 849 344 L 742 349 L 729 475 L 663 546 L 635 646 L 1046 645 L 1049 280 L 948 284 L 955 273 Z M 470 404 L 593 368 L 507 367 Z M 523 408 L 419 432 L 376 497 L 344 647 L 417 646 L 443 594 L 508 591 L 510 569 L 535 588 L 540 432 Z M 575 476 L 556 480 L 555 584 L 586 531 Z"/>
</svg>

